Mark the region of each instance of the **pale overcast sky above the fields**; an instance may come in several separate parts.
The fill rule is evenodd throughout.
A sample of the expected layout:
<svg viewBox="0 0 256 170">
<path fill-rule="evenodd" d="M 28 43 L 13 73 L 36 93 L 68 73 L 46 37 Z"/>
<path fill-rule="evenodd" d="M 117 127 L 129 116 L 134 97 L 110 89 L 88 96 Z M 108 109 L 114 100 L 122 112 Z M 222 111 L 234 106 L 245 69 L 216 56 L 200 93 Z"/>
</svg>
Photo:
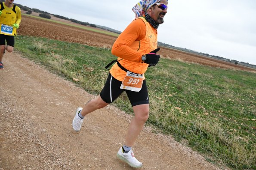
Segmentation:
<svg viewBox="0 0 256 170">
<path fill-rule="evenodd" d="M 15 0 L 30 8 L 123 31 L 139 0 Z M 169 0 L 158 41 L 256 65 L 256 0 Z"/>
</svg>

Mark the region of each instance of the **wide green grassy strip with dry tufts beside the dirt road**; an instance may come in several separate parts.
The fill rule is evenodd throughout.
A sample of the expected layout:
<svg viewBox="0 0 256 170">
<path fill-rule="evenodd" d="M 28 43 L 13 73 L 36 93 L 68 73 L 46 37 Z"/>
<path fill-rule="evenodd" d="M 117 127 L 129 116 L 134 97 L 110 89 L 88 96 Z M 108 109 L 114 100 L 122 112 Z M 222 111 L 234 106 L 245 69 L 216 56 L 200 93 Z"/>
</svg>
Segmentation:
<svg viewBox="0 0 256 170">
<path fill-rule="evenodd" d="M 116 59 L 108 48 L 18 36 L 24 57 L 99 94 Z M 148 123 L 186 140 L 207 160 L 238 170 L 256 169 L 256 74 L 161 59 L 145 74 L 150 96 Z M 114 102 L 133 113 L 126 95 Z"/>
</svg>

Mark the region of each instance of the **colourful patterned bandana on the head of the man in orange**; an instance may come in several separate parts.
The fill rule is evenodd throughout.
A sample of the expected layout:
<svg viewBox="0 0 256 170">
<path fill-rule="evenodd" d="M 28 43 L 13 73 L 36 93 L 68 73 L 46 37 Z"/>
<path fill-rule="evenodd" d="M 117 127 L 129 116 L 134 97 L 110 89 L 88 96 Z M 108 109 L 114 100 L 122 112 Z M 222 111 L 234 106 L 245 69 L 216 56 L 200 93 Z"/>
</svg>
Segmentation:
<svg viewBox="0 0 256 170">
<path fill-rule="evenodd" d="M 133 7 L 133 12 L 136 15 L 136 18 L 141 17 L 151 8 L 155 3 L 160 2 L 161 0 L 141 0 Z M 168 1 L 168 0 L 167 0 Z"/>
</svg>

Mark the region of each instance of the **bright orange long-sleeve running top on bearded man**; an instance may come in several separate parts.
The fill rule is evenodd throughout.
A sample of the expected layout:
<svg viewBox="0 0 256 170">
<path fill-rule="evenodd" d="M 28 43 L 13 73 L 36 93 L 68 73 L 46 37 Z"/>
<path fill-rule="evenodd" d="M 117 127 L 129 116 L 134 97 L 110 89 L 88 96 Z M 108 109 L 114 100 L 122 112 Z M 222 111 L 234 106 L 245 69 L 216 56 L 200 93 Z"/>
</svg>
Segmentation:
<svg viewBox="0 0 256 170">
<path fill-rule="evenodd" d="M 151 26 L 144 17 L 136 18 L 120 34 L 112 47 L 112 54 L 118 57 L 118 62 L 127 70 L 144 74 L 148 64 L 142 62 L 142 55 L 157 48 L 157 29 Z M 126 72 L 115 64 L 111 75 L 123 81 Z"/>
</svg>

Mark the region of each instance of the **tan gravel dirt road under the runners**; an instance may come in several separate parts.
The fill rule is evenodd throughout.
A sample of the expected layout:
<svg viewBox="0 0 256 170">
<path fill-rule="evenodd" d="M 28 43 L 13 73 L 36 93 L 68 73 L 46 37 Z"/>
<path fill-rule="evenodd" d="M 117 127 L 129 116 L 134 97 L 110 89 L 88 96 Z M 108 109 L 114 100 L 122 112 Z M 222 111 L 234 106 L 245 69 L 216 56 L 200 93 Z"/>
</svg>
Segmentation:
<svg viewBox="0 0 256 170">
<path fill-rule="evenodd" d="M 74 112 L 93 95 L 6 52 L 0 70 L 0 170 L 133 169 L 116 158 L 132 115 L 110 105 L 72 128 Z M 218 170 L 172 137 L 146 127 L 134 146 L 145 170 Z"/>
</svg>

